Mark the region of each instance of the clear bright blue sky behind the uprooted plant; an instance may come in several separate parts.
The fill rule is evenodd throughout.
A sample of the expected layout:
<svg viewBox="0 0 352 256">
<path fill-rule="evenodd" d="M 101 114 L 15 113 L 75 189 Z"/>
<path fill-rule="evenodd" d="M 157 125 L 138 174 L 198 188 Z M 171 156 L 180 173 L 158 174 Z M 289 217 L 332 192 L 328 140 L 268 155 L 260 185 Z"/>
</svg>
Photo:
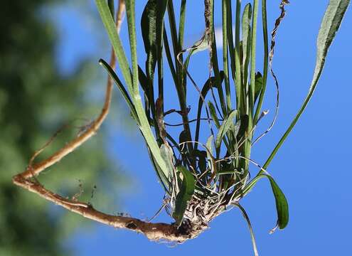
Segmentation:
<svg viewBox="0 0 352 256">
<path fill-rule="evenodd" d="M 269 26 L 272 28 L 274 19 L 279 15 L 279 1 L 268 2 Z M 140 3 L 137 4 L 137 16 L 140 16 L 145 1 L 137 3 Z M 281 88 L 279 118 L 272 132 L 255 145 L 252 153 L 252 159 L 261 164 L 308 92 L 315 64 L 316 36 L 327 3 L 327 0 L 292 1 L 287 6 L 287 18 L 279 28 L 273 64 Z M 202 34 L 202 4 L 202 0 L 188 1 L 185 39 L 188 46 Z M 91 14 L 93 20 L 89 26 L 86 23 L 87 17 L 75 5 L 55 9 L 55 19 L 62 36 L 57 56 L 63 73 L 69 72 L 80 58 L 89 57 L 96 63 L 98 58 L 107 58 L 107 36 L 92 1 L 87 10 L 89 11 L 84 14 Z M 216 23 L 220 25 L 219 8 L 215 15 Z M 350 251 L 352 36 L 351 28 L 348 27 L 351 26 L 352 13 L 349 9 L 329 51 L 316 94 L 269 168 L 289 201 L 289 225 L 285 230 L 269 235 L 268 231 L 276 221 L 276 211 L 267 181 L 258 183 L 249 196 L 242 200 L 242 206 L 250 215 L 255 230 L 260 255 L 346 255 Z M 127 42 L 125 28 L 122 29 L 121 36 Z M 260 38 L 261 35 L 258 36 Z M 258 49 L 261 47 L 259 44 Z M 144 48 L 139 43 L 141 58 L 142 53 Z M 208 53 L 199 53 L 191 63 L 193 77 L 200 84 L 208 76 L 207 56 Z M 100 66 L 96 67 L 104 75 Z M 166 75 L 166 81 L 168 80 L 170 86 L 166 95 L 173 98 L 175 92 L 170 75 Z M 198 98 L 196 96 L 196 92 L 190 92 L 190 105 L 195 102 L 193 99 Z M 274 97 L 274 83 L 269 80 L 264 107 L 271 110 L 271 114 L 263 120 L 260 129 L 266 129 L 270 123 L 274 112 Z M 117 100 L 116 96 L 114 100 Z M 170 100 L 166 104 L 171 106 L 173 103 Z M 110 114 L 117 111 L 122 110 L 112 110 Z M 130 175 L 136 181 L 133 193 L 124 195 L 124 203 L 117 211 L 123 210 L 137 218 L 151 217 L 161 206 L 164 194 L 149 163 L 137 127 L 132 125 L 128 132 L 122 127 L 124 125 L 118 131 L 110 129 L 107 134 L 110 154 L 130 170 Z M 252 171 L 257 171 L 255 166 L 252 166 Z M 170 219 L 161 215 L 158 221 Z M 220 215 L 210 223 L 210 229 L 195 240 L 176 247 L 149 242 L 142 235 L 100 224 L 94 230 L 78 231 L 70 244 L 77 255 L 252 255 L 247 225 L 236 209 Z"/>
</svg>

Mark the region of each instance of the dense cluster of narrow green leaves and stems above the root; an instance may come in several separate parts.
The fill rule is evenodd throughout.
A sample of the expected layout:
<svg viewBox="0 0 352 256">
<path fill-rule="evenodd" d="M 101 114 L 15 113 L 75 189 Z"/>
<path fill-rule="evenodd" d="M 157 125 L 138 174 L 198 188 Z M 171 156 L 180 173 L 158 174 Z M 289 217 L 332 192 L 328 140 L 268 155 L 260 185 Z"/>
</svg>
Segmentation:
<svg viewBox="0 0 352 256">
<path fill-rule="evenodd" d="M 141 20 L 146 54 L 144 68 L 139 66 L 137 61 L 134 0 L 125 1 L 132 68 L 127 62 L 122 42 L 114 30 L 114 20 L 109 6 L 104 0 L 96 0 L 96 2 L 117 55 L 124 83 L 104 60 L 100 63 L 115 80 L 129 106 L 133 119 L 139 126 L 149 149 L 151 162 L 170 197 L 169 203 L 176 224 L 180 225 L 185 216 L 189 219 L 187 209 L 195 198 L 198 202 L 216 198 L 212 203 L 218 208 L 226 208 L 229 205 L 238 206 L 247 216 L 238 201 L 250 192 L 260 178 L 268 178 L 277 206 L 277 226 L 281 229 L 285 228 L 289 220 L 287 199 L 274 178 L 265 169 L 309 102 L 321 75 L 327 50 L 340 26 L 349 1 L 330 1 L 319 31 L 318 58 L 309 95 L 264 166 L 255 164 L 255 161 L 250 159 L 250 153 L 257 124 L 266 114 L 262 110 L 262 102 L 265 97 L 268 70 L 271 69 L 274 34 L 284 17 L 284 6 L 288 4 L 288 1 L 282 1 L 280 6 L 282 14 L 272 33 L 272 46 L 269 51 L 267 6 L 266 1 L 262 0 L 264 68 L 260 71 L 256 68 L 257 21 L 260 12 L 260 1 L 258 0 L 245 4 L 242 12 L 242 1 L 236 1 L 234 15 L 232 2 L 226 0 L 221 2 L 222 58 L 218 56 L 215 42 L 213 25 L 215 1 L 204 1 L 206 28 L 203 37 L 191 48 L 183 48 L 186 0 L 181 1 L 178 24 L 172 0 L 147 1 Z M 168 22 L 165 19 L 166 14 Z M 233 23 L 235 24 L 234 35 Z M 168 34 L 171 35 L 171 39 L 168 38 Z M 200 88 L 193 80 L 188 67 L 191 64 L 191 56 L 201 50 L 208 50 L 210 68 L 206 82 Z M 176 87 L 179 111 L 164 110 L 164 56 L 166 56 L 166 63 L 169 65 L 168 69 Z M 219 68 L 219 61 L 222 61 L 223 70 Z M 272 75 L 274 75 L 273 72 Z M 277 82 L 275 76 L 274 79 Z M 188 117 L 189 108 L 186 100 L 189 83 L 199 92 L 194 133 L 190 128 L 191 121 Z M 124 84 L 127 85 L 127 89 Z M 139 90 L 139 85 L 142 91 Z M 203 110 L 206 112 L 206 118 L 201 117 Z M 171 112 L 177 112 L 182 119 L 183 130 L 178 137 L 172 137 L 169 130 L 166 130 L 164 116 Z M 200 137 L 202 120 L 210 131 L 206 143 Z M 260 168 L 259 173 L 252 179 L 250 179 L 250 163 Z"/>
</svg>

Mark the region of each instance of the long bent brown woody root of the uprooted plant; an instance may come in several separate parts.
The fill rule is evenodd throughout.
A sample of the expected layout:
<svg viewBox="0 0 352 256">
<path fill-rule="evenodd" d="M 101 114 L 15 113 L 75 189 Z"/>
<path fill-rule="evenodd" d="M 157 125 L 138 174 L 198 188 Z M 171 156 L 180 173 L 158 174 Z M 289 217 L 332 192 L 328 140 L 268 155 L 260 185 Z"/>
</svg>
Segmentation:
<svg viewBox="0 0 352 256">
<path fill-rule="evenodd" d="M 121 28 L 124 9 L 124 0 L 119 0 L 119 6 L 116 15 L 117 32 L 119 32 Z M 112 50 L 110 58 L 110 66 L 112 67 L 112 69 L 115 68 L 115 64 L 116 58 L 114 55 L 114 50 Z M 39 149 L 33 154 L 26 170 L 23 171 L 21 174 L 17 174 L 16 176 L 14 176 L 12 178 L 12 181 L 17 186 L 20 186 L 28 191 L 36 193 L 38 194 L 38 196 L 41 196 L 42 198 L 45 198 L 46 200 L 51 201 L 59 206 L 63 206 L 63 208 L 66 208 L 72 211 L 73 213 L 78 213 L 85 218 L 89 218 L 90 220 L 95 220 L 106 225 L 112 225 L 114 228 L 134 230 L 137 233 L 142 233 L 146 235 L 146 238 L 149 238 L 149 240 L 169 240 L 173 242 L 184 242 L 188 239 L 195 238 L 199 233 L 201 233 L 201 230 L 193 230 L 187 224 L 181 225 L 180 228 L 177 228 L 176 225 L 173 224 L 148 223 L 137 218 L 129 218 L 125 216 L 115 216 L 102 213 L 99 210 L 95 210 L 95 208 L 93 208 L 88 203 L 70 200 L 58 195 L 57 193 L 53 193 L 52 191 L 49 191 L 48 189 L 44 188 L 44 186 L 42 186 L 41 183 L 36 180 L 36 176 L 38 176 L 41 171 L 44 171 L 49 166 L 52 166 L 53 164 L 57 163 L 58 161 L 63 159 L 63 157 L 70 154 L 70 152 L 75 151 L 78 146 L 82 145 L 93 135 L 95 135 L 95 133 L 100 128 L 100 125 L 105 120 L 105 117 L 107 117 L 107 114 L 109 112 L 112 95 L 112 86 L 113 81 L 110 77 L 108 77 L 107 89 L 105 94 L 105 103 L 102 107 L 102 112 L 97 117 L 97 119 L 92 122 L 90 127 L 85 130 L 85 132 L 82 132 L 82 134 L 78 135 L 78 137 L 68 142 L 68 144 L 63 146 L 62 149 L 56 151 L 54 154 L 49 156 L 48 159 L 33 164 L 33 161 L 36 156 L 38 156 L 38 154 L 40 154 L 41 151 L 43 151 L 43 149 L 48 146 L 48 144 L 50 144 L 50 142 L 55 137 L 54 135 L 53 138 L 51 138 L 49 142 L 45 146 L 43 146 L 43 148 Z"/>
</svg>

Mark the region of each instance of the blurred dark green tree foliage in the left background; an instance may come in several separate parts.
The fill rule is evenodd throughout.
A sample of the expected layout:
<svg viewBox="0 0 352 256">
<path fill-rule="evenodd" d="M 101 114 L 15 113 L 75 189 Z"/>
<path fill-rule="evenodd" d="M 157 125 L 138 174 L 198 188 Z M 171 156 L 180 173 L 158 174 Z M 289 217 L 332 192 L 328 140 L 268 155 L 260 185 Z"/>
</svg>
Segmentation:
<svg viewBox="0 0 352 256">
<path fill-rule="evenodd" d="M 55 26 L 40 15 L 43 6 L 52 2 L 4 1 L 0 8 L 0 255 L 67 255 L 63 239 L 83 220 L 11 183 L 11 177 L 26 168 L 33 151 L 60 125 L 72 121 L 43 156 L 89 124 L 73 119 L 93 118 L 100 112 L 100 105 L 84 97 L 92 78 L 89 63 L 80 63 L 70 75 L 57 71 Z M 44 186 L 65 196 L 83 188 L 80 200 L 112 210 L 106 207 L 116 200 L 112 195 L 117 194 L 117 186 L 104 185 L 103 191 L 110 193 L 102 193 L 99 184 L 109 180 L 116 185 L 121 177 L 116 164 L 112 168 L 107 159 L 101 134 L 42 175 Z M 57 215 L 61 218 L 54 218 Z"/>
</svg>

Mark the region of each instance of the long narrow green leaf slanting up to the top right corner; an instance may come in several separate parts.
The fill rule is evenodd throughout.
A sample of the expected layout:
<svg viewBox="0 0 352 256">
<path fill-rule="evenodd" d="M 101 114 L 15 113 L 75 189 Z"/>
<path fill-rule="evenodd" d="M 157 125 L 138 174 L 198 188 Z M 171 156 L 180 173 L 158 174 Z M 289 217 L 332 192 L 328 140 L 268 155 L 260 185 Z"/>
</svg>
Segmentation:
<svg viewBox="0 0 352 256">
<path fill-rule="evenodd" d="M 319 78 L 323 71 L 325 58 L 328 53 L 329 47 L 331 46 L 331 43 L 336 36 L 336 32 L 338 31 L 338 28 L 340 28 L 342 18 L 346 13 L 346 10 L 349 4 L 350 4 L 350 0 L 330 0 L 329 6 L 326 9 L 323 21 L 321 22 L 318 39 L 316 41 L 316 46 L 317 46 L 316 67 L 314 70 L 314 75 L 311 81 L 311 87 L 309 88 L 308 95 L 306 96 L 306 99 L 304 100 L 302 107 L 297 112 L 292 123 L 289 125 L 289 128 L 287 128 L 287 131 L 284 133 L 284 135 L 282 135 L 282 138 L 274 147 L 274 150 L 272 151 L 267 161 L 265 162 L 263 166 L 264 169 L 266 169 L 267 166 L 269 166 L 270 162 L 277 154 L 277 151 L 282 146 L 287 136 L 296 125 L 299 117 L 301 117 L 302 113 L 306 109 L 306 105 L 311 100 L 311 96 L 313 95 L 314 90 L 316 89 L 316 85 L 318 84 Z"/>
</svg>

